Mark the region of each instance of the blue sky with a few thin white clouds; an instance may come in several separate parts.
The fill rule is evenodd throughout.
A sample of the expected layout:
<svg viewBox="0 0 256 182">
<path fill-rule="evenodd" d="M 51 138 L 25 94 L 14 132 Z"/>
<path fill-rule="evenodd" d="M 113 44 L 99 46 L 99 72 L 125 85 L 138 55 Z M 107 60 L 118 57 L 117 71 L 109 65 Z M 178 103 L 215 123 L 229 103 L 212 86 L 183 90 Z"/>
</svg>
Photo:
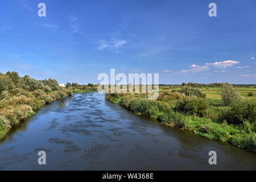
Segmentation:
<svg viewBox="0 0 256 182">
<path fill-rule="evenodd" d="M 256 84 L 255 57 L 255 0 L 0 2 L 2 73 L 97 84 L 114 68 L 159 73 L 160 84 Z"/>
</svg>

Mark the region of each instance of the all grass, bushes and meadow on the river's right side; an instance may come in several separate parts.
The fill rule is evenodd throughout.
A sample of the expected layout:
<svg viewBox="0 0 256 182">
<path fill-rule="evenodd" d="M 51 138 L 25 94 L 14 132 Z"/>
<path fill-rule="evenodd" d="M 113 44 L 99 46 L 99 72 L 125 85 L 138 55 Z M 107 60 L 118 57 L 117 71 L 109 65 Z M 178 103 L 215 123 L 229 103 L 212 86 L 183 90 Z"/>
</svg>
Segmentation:
<svg viewBox="0 0 256 182">
<path fill-rule="evenodd" d="M 200 86 L 160 85 L 157 100 L 147 100 L 147 94 L 139 93 L 112 93 L 105 97 L 165 125 L 256 152 L 255 87 L 235 85 L 243 86 L 237 88 L 228 83 Z"/>
</svg>

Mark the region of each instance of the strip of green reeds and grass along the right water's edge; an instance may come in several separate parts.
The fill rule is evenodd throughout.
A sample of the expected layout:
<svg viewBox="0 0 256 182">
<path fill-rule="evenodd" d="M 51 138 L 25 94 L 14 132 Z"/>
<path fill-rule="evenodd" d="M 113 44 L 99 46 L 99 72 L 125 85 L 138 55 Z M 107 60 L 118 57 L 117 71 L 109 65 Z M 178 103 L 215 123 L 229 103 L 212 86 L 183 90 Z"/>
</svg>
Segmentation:
<svg viewBox="0 0 256 182">
<path fill-rule="evenodd" d="M 177 127 L 184 131 L 193 131 L 203 137 L 229 142 L 239 148 L 256 152 L 256 134 L 242 125 L 230 125 L 206 117 L 188 115 L 175 111 L 172 102 L 145 100 L 131 95 L 106 95 L 106 99 L 120 105 L 137 115 L 158 119 L 164 125 Z"/>
</svg>

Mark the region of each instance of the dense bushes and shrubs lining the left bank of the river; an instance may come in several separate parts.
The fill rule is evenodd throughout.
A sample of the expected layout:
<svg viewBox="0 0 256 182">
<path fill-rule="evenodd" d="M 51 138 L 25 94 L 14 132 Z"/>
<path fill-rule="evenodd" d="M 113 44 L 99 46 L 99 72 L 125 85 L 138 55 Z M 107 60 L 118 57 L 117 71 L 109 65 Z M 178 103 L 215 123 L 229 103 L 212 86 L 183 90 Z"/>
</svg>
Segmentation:
<svg viewBox="0 0 256 182">
<path fill-rule="evenodd" d="M 89 92 L 95 88 L 93 84 L 77 83 L 67 83 L 63 87 L 51 78 L 35 80 L 27 75 L 20 77 L 17 72 L 0 73 L 0 138 L 45 104 L 71 96 L 72 90 Z"/>
</svg>

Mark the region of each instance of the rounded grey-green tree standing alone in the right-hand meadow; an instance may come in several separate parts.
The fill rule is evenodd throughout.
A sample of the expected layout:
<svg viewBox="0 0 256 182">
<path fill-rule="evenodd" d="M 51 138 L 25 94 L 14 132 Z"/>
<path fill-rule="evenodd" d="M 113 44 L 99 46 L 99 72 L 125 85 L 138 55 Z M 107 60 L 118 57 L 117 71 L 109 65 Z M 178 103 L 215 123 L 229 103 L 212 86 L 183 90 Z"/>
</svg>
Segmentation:
<svg viewBox="0 0 256 182">
<path fill-rule="evenodd" d="M 233 102 L 238 102 L 242 100 L 242 97 L 240 96 L 240 93 L 237 91 L 237 88 L 234 88 L 234 86 L 228 83 L 222 85 L 223 90 L 221 93 L 221 97 L 225 106 L 229 106 Z"/>
</svg>

